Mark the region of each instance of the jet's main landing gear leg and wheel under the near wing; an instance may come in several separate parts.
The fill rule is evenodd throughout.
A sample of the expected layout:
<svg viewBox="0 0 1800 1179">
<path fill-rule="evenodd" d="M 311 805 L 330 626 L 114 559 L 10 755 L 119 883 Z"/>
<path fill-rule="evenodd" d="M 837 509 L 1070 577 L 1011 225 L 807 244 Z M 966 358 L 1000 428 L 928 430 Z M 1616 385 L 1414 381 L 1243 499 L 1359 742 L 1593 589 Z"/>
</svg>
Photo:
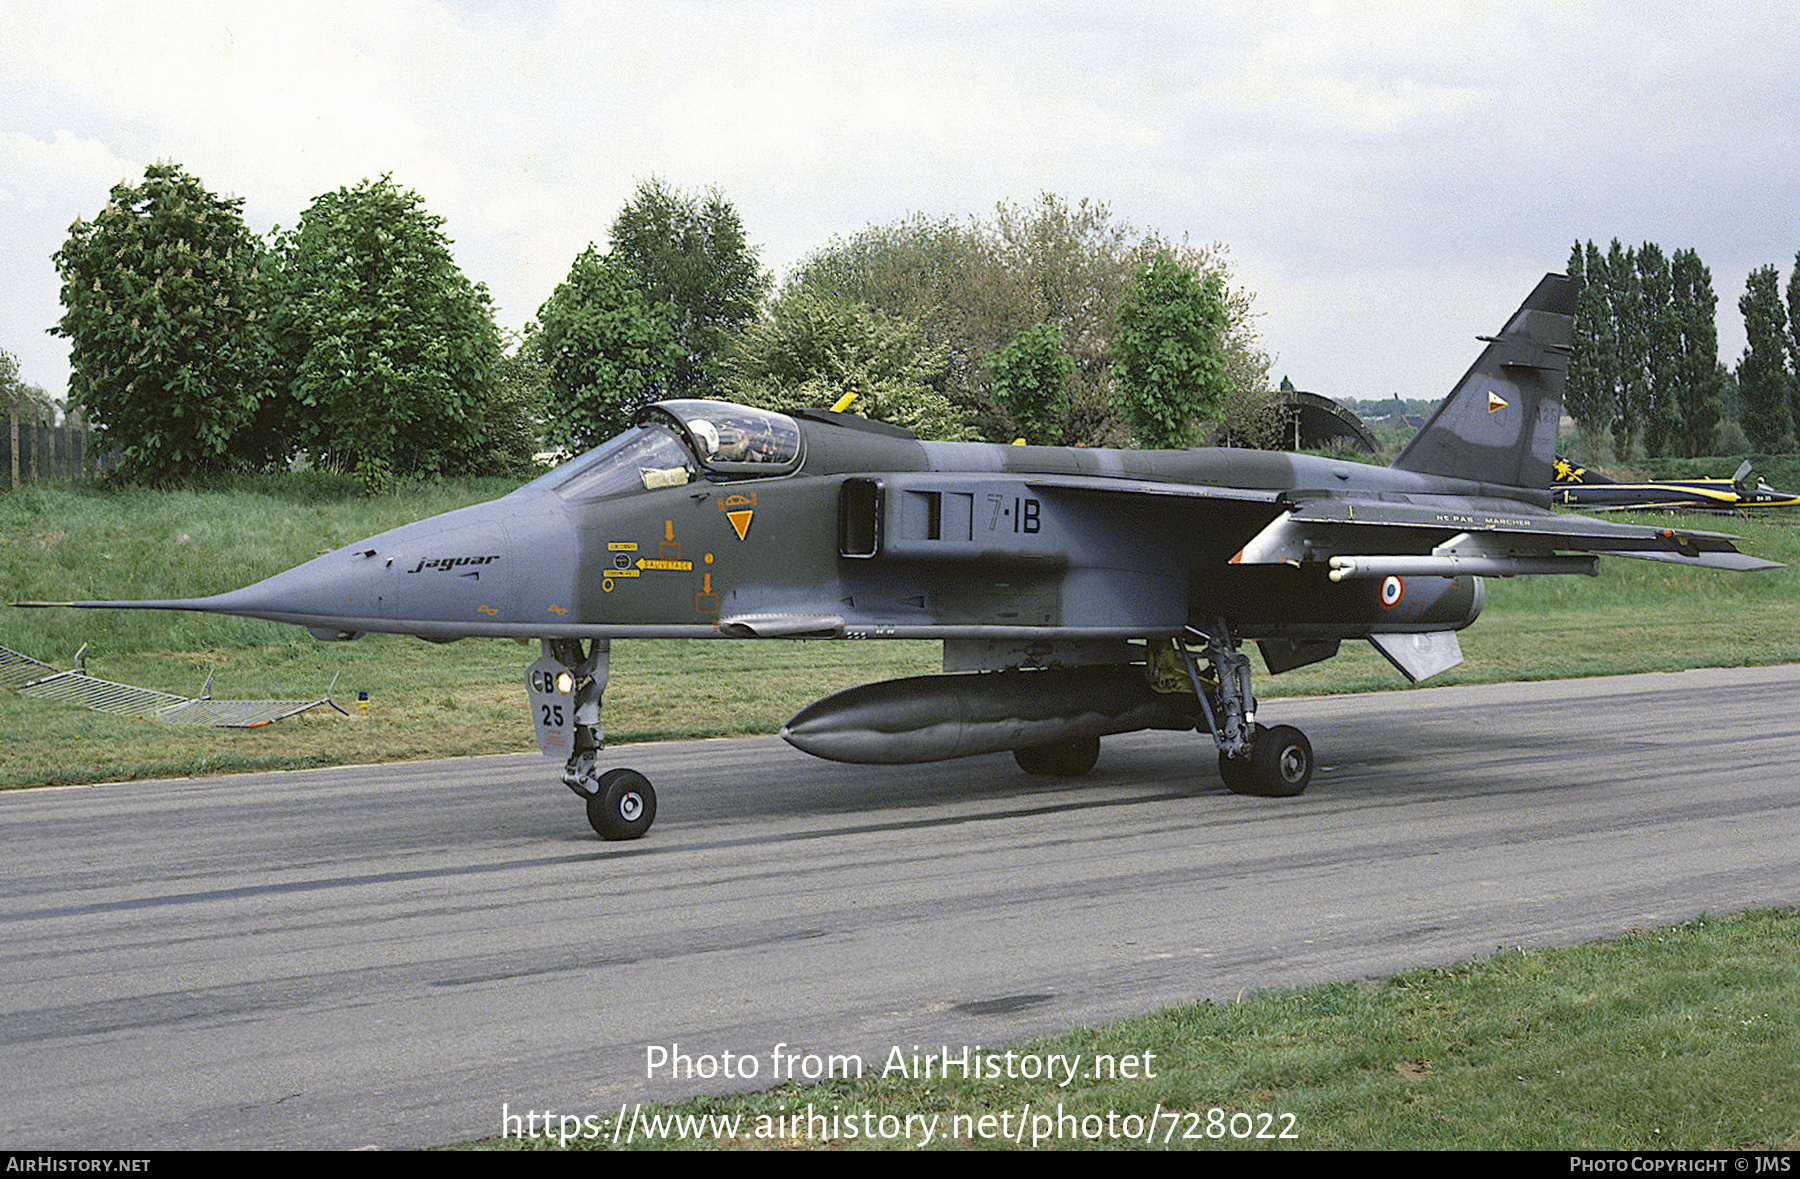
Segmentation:
<svg viewBox="0 0 1800 1179">
<path fill-rule="evenodd" d="M 1233 794 L 1294 797 L 1312 781 L 1312 742 L 1292 725 L 1256 724 L 1256 697 L 1249 689 L 1249 657 L 1238 650 L 1224 619 L 1190 626 L 1186 639 L 1204 643 L 1201 670 L 1186 643 L 1175 650 L 1186 662 L 1201 715 L 1219 745 L 1219 776 Z"/>
</svg>

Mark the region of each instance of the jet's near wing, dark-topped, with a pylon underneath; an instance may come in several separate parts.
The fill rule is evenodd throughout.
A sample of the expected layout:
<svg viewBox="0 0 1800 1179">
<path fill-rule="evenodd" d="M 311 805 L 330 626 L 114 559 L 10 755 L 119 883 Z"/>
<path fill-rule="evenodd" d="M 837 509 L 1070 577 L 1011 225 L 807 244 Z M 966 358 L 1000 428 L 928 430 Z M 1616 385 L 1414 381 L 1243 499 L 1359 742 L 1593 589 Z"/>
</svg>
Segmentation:
<svg viewBox="0 0 1800 1179">
<path fill-rule="evenodd" d="M 1723 533 L 1561 515 L 1516 500 L 1309 499 L 1276 517 L 1233 563 L 1325 560 L 1332 580 L 1593 574 L 1598 554 L 1730 571 L 1780 567 L 1739 553 L 1735 540 Z"/>
</svg>

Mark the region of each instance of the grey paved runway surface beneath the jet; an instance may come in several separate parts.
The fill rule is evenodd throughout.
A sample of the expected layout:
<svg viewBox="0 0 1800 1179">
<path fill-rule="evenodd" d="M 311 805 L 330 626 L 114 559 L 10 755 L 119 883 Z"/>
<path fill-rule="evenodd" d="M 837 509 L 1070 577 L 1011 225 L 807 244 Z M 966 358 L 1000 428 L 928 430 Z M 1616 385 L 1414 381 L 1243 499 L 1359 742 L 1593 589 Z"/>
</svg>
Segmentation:
<svg viewBox="0 0 1800 1179">
<path fill-rule="evenodd" d="M 1800 668 L 1260 718 L 1312 738 L 1303 797 L 1170 733 L 1078 781 L 616 747 L 661 794 L 632 844 L 535 754 L 0 794 L 0 1143 L 452 1143 L 769 1087 L 778 1046 L 873 1069 L 1800 902 Z"/>
</svg>

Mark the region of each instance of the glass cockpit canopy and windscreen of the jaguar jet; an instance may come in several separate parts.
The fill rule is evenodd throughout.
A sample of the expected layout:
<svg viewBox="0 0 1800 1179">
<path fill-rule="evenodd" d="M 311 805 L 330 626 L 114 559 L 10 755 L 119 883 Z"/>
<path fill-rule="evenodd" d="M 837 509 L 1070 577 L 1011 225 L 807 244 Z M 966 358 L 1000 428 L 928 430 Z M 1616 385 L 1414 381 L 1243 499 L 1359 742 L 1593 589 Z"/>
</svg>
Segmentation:
<svg viewBox="0 0 1800 1179">
<path fill-rule="evenodd" d="M 677 488 L 695 479 L 767 479 L 799 466 L 792 418 L 729 401 L 657 401 L 630 430 L 533 481 L 569 502 Z"/>
</svg>

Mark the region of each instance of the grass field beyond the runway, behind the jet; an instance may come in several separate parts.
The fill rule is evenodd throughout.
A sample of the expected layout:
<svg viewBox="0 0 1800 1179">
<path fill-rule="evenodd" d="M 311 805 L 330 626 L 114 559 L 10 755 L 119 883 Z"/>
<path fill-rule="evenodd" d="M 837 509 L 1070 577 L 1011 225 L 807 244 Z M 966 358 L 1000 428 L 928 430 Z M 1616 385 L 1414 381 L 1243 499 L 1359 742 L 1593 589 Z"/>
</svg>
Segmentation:
<svg viewBox="0 0 1800 1179">
<path fill-rule="evenodd" d="M 324 475 L 207 490 L 41 484 L 0 497 L 0 594 L 14 599 L 176 598 L 248 585 L 385 527 L 491 499 L 504 482 L 405 486 L 365 499 Z M 1685 518 L 1800 565 L 1787 517 Z M 1431 680 L 1471 684 L 1800 661 L 1800 572 L 1724 574 L 1609 560 L 1598 578 L 1489 581 L 1467 661 Z M 293 626 L 169 612 L 0 610 L 0 644 L 142 688 L 218 698 L 335 698 L 265 729 L 189 729 L 0 695 L 0 788 L 344 765 L 533 747 L 524 670 L 535 648 L 369 635 L 317 643 Z M 740 643 L 729 671 L 707 641 L 614 644 L 612 742 L 774 733 L 841 688 L 938 668 L 934 643 Z M 1258 675 L 1262 698 L 1404 689 L 1366 644 L 1325 664 Z M 367 716 L 355 700 L 369 693 Z"/>
</svg>

